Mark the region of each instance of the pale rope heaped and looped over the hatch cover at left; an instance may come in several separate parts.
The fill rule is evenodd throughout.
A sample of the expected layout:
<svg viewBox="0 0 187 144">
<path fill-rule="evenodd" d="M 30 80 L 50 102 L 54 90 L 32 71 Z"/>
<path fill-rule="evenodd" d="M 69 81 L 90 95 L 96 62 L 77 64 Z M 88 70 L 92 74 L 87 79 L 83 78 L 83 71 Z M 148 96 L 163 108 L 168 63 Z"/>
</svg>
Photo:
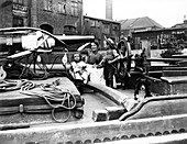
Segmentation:
<svg viewBox="0 0 187 144">
<path fill-rule="evenodd" d="M 36 96 L 43 98 L 46 103 L 52 108 L 52 118 L 56 122 L 66 122 L 70 117 L 70 110 L 76 107 L 76 98 L 68 89 L 64 89 L 59 85 L 61 79 L 53 81 L 52 84 L 40 84 L 36 85 L 30 80 L 19 80 L 19 81 L 1 81 L 0 82 L 0 92 L 1 91 L 10 91 L 10 90 L 19 90 L 22 95 L 28 96 Z M 12 86 L 12 87 L 8 87 Z M 33 88 L 40 88 L 42 90 L 36 92 L 33 91 Z M 56 110 L 68 110 L 68 117 L 65 120 L 57 120 L 55 117 Z M 37 113 L 35 110 L 23 110 L 29 113 Z"/>
</svg>

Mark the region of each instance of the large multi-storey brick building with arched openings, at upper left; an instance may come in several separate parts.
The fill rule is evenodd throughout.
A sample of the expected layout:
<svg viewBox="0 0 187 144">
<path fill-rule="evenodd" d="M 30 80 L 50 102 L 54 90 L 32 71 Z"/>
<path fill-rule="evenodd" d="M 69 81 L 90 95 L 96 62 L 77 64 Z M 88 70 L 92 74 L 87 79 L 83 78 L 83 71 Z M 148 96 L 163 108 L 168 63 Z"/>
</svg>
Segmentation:
<svg viewBox="0 0 187 144">
<path fill-rule="evenodd" d="M 82 0 L 1 0 L 0 27 L 33 26 L 81 34 Z"/>
</svg>

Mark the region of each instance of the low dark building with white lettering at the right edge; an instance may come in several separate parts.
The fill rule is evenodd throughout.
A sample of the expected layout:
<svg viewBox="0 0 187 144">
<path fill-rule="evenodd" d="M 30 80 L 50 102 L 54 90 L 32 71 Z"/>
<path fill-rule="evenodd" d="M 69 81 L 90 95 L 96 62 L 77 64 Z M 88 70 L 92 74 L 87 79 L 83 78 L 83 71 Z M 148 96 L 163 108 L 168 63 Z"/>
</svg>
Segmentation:
<svg viewBox="0 0 187 144">
<path fill-rule="evenodd" d="M 170 27 L 133 32 L 134 49 L 143 48 L 143 43 L 150 44 L 151 49 L 175 48 L 179 41 L 187 42 L 187 27 Z M 186 43 L 187 44 L 187 43 Z"/>
</svg>

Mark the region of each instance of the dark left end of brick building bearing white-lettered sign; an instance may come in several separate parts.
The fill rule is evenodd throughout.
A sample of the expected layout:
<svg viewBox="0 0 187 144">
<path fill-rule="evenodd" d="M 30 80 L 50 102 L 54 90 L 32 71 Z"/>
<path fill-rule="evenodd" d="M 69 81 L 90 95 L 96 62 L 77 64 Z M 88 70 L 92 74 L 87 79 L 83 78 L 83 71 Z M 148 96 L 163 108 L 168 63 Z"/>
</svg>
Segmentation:
<svg viewBox="0 0 187 144">
<path fill-rule="evenodd" d="M 0 27 L 31 25 L 30 0 L 1 0 Z"/>
</svg>

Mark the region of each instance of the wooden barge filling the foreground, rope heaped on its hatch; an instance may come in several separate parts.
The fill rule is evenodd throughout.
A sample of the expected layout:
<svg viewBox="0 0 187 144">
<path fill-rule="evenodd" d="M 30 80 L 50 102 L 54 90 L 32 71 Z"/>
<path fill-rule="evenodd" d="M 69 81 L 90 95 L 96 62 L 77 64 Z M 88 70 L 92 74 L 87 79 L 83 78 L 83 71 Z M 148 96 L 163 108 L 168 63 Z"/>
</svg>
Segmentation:
<svg viewBox="0 0 187 144">
<path fill-rule="evenodd" d="M 38 41 L 33 35 L 42 42 L 33 47 L 25 42 L 20 45 L 25 37 Z M 0 143 L 186 142 L 185 66 L 156 67 L 148 75 L 131 71 L 131 87 L 127 90 L 89 81 L 81 85 L 80 92 L 69 78 L 67 64 L 58 62 L 59 67 L 46 62 L 63 59 L 68 53 L 62 40 L 33 27 L 2 29 L 0 36 L 4 68 L 0 84 Z M 152 97 L 135 101 L 135 80 L 140 76 L 151 81 Z"/>
</svg>

